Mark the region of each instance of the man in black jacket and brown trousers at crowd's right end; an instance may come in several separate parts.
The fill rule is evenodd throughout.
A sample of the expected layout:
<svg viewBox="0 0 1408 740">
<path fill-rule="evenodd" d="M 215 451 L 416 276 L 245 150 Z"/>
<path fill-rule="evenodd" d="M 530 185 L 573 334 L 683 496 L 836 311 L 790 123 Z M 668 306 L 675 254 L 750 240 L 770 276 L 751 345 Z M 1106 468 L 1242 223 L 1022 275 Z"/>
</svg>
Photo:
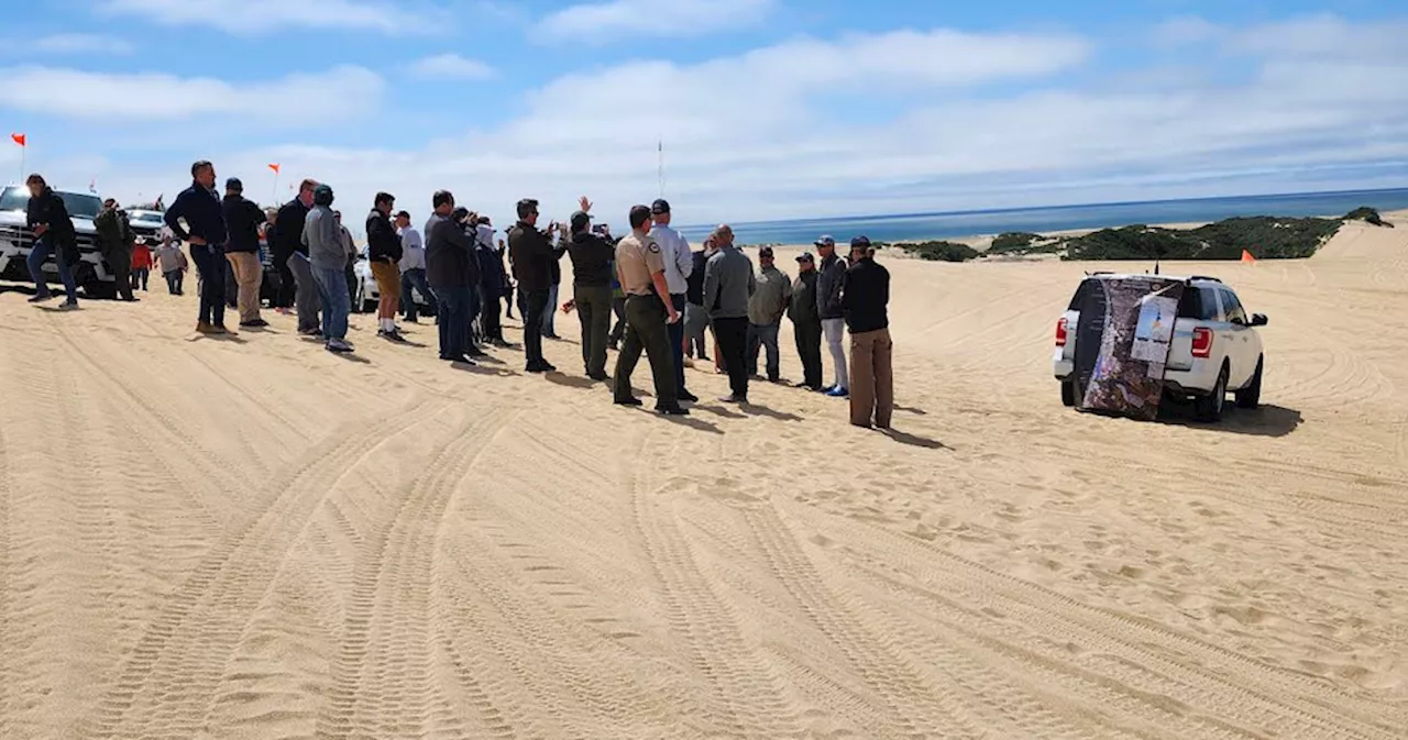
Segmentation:
<svg viewBox="0 0 1408 740">
<path fill-rule="evenodd" d="M 890 270 L 869 253 L 870 239 L 850 241 L 841 308 L 850 329 L 850 423 L 890 428 L 894 412 L 894 369 L 890 342 Z"/>
</svg>

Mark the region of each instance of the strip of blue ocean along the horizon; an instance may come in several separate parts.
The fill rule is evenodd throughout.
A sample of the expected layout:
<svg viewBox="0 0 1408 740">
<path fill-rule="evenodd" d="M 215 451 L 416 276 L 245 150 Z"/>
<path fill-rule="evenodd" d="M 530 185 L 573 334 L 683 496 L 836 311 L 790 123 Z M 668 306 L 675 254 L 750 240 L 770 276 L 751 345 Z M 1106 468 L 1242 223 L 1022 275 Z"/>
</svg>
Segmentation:
<svg viewBox="0 0 1408 740">
<path fill-rule="evenodd" d="M 1005 208 L 997 211 L 955 211 L 934 214 L 867 215 L 850 218 L 805 218 L 732 224 L 741 245 L 807 245 L 829 234 L 838 242 L 856 235 L 873 241 L 953 239 L 995 235 L 1007 231 L 1036 234 L 1067 229 L 1095 229 L 1131 224 L 1211 222 L 1243 215 L 1343 215 L 1360 205 L 1381 211 L 1408 208 L 1408 189 L 1349 190 L 1336 193 L 1294 193 L 1224 198 L 1159 200 Z M 712 227 L 684 227 L 691 242 L 701 242 Z"/>
</svg>

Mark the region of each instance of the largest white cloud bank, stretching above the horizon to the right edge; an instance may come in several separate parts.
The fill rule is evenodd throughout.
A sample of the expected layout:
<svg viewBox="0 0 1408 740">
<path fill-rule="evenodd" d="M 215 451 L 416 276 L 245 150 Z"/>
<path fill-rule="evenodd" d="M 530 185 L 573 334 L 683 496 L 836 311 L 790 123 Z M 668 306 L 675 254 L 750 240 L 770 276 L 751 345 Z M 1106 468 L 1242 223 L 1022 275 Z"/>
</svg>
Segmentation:
<svg viewBox="0 0 1408 740">
<path fill-rule="evenodd" d="M 451 187 L 497 222 L 520 197 L 563 218 L 587 193 L 620 224 L 629 204 L 655 197 L 662 135 L 681 222 L 1188 196 L 1212 181 L 1274 191 L 1304 173 L 1324 184 L 1346 166 L 1373 167 L 1374 184 L 1394 173 L 1404 183 L 1401 30 L 1336 23 L 1338 45 L 1262 51 L 1252 39 L 1277 27 L 1229 28 L 1249 55 L 1236 76 L 1180 83 L 1169 73 L 1157 87 L 1117 90 L 1083 66 L 1087 41 L 1059 34 L 794 39 L 696 65 L 638 60 L 566 75 L 510 101 L 521 117 L 470 122 L 442 141 L 383 145 L 396 139 L 379 132 L 366 148 L 308 136 L 210 153 L 222 174 L 282 162 L 286 181 L 320 177 L 339 203 L 369 204 L 387 190 L 417 217 L 435 189 Z M 639 104 L 642 90 L 649 106 Z M 245 118 L 258 121 L 252 110 Z M 189 159 L 172 152 L 166 163 L 99 179 L 120 198 L 162 181 L 172 190 Z"/>
</svg>

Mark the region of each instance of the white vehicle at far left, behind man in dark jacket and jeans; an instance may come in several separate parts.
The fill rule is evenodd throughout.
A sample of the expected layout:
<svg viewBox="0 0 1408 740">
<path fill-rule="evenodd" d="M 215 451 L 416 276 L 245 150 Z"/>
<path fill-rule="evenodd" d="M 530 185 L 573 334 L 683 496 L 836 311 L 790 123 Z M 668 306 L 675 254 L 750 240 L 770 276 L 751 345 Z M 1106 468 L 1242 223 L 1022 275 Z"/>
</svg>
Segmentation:
<svg viewBox="0 0 1408 740">
<path fill-rule="evenodd" d="M 97 229 L 93 219 L 103 212 L 103 198 L 77 190 L 54 189 L 63 205 L 69 210 L 73 221 L 73 231 L 77 234 L 79 263 L 73 269 L 73 280 L 90 298 L 111 298 L 117 295 L 117 283 L 113 270 L 103 259 L 103 252 L 97 248 Z M 30 189 L 25 186 L 6 186 L 0 189 L 0 280 L 30 281 L 30 269 L 25 260 L 34 248 L 34 231 L 25 224 L 25 211 L 30 205 Z M 44 263 L 45 279 L 49 283 L 59 281 L 59 269 L 54 256 Z"/>
</svg>

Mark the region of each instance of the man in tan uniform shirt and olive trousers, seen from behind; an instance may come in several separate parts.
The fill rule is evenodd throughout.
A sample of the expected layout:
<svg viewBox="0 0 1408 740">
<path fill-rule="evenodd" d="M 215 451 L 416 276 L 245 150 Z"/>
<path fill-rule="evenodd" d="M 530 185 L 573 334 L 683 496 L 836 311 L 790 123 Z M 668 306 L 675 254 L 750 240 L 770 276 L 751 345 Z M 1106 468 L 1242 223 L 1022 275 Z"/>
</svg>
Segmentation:
<svg viewBox="0 0 1408 740">
<path fill-rule="evenodd" d="M 680 321 L 679 311 L 670 302 L 670 288 L 665 283 L 665 255 L 660 245 L 649 235 L 650 208 L 631 208 L 631 235 L 621 239 L 615 250 L 617 276 L 625 301 L 625 343 L 617 356 L 615 402 L 627 407 L 642 405 L 631 394 L 631 373 L 645 349 L 650 359 L 650 374 L 655 377 L 655 411 L 670 416 L 683 416 L 689 411 L 680 408 L 679 387 L 674 381 L 674 364 L 670 350 L 667 325 Z M 666 321 L 669 317 L 669 321 Z"/>
</svg>

